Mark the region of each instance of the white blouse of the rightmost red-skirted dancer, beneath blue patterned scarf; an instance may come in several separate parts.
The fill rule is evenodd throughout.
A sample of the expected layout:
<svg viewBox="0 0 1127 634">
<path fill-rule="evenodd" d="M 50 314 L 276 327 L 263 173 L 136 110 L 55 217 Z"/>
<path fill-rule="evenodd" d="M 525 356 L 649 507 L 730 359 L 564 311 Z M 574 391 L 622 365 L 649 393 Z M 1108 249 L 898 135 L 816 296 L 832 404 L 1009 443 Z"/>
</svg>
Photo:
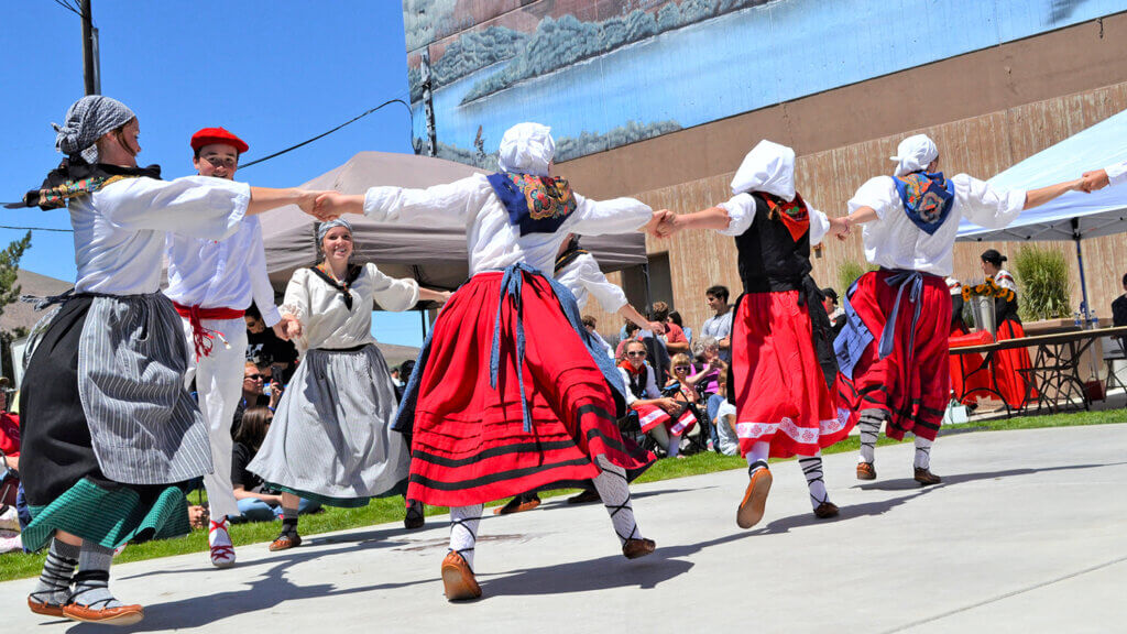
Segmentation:
<svg viewBox="0 0 1127 634">
<path fill-rule="evenodd" d="M 863 224 L 866 258 L 886 268 L 923 271 L 946 278 L 953 270 L 955 237 L 961 219 L 999 229 L 1013 222 L 1026 206 L 1024 190 L 997 191 L 966 174 L 953 176 L 951 183 L 955 184 L 951 212 L 930 236 L 904 212 L 891 176 L 877 176 L 861 185 L 849 201 L 850 213 L 869 206 L 878 218 Z"/>
</svg>

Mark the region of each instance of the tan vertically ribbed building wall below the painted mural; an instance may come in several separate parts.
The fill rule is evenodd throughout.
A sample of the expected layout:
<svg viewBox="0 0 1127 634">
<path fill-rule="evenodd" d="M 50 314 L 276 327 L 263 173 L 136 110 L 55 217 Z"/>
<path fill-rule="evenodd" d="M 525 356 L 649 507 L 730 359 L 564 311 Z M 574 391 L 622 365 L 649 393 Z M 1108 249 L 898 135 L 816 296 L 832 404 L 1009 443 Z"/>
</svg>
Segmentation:
<svg viewBox="0 0 1127 634">
<path fill-rule="evenodd" d="M 941 162 L 949 174 L 967 173 L 988 177 L 1037 153 L 1085 127 L 1120 111 L 1127 109 L 1127 82 L 1058 96 L 1031 104 L 1015 105 L 979 116 L 904 130 L 838 148 L 798 157 L 796 182 L 804 197 L 831 215 L 845 212 L 846 201 L 866 179 L 887 174 L 896 144 L 907 134 L 923 132 L 935 140 Z M 624 158 L 622 160 L 625 160 Z M 738 160 L 731 162 L 738 166 Z M 1102 166 L 1092 166 L 1102 167 Z M 561 173 L 565 171 L 561 167 Z M 654 208 L 667 208 L 678 213 L 695 211 L 727 200 L 734 169 L 677 185 L 637 192 L 635 195 Z M 1079 175 L 1077 175 L 1079 176 Z M 1048 184 L 1048 183 L 1046 183 Z M 577 188 L 583 191 L 584 184 Z M 979 254 L 996 248 L 1013 254 L 1022 243 L 957 244 L 955 275 L 960 280 L 980 280 Z M 1070 265 L 1073 306 L 1080 303 L 1080 278 L 1073 243 L 1037 243 L 1058 249 Z M 1110 317 L 1111 300 L 1122 292 L 1120 280 L 1127 273 L 1127 237 L 1108 236 L 1083 244 L 1089 296 L 1097 314 Z M 710 315 L 703 290 L 722 283 L 738 293 L 735 245 L 713 231 L 678 235 L 671 240 L 647 239 L 650 253 L 668 252 L 673 272 L 674 307 L 687 325 L 698 328 Z M 1011 257 L 1012 259 L 1012 257 Z M 860 235 L 840 243 L 831 240 L 823 256 L 814 259 L 814 276 L 822 285 L 838 287 L 837 270 L 845 262 L 864 263 Z M 620 274 L 610 275 L 620 281 Z M 838 291 L 843 289 L 838 288 Z M 588 306 L 587 312 L 600 318 L 600 331 L 611 333 L 621 320 Z"/>
</svg>

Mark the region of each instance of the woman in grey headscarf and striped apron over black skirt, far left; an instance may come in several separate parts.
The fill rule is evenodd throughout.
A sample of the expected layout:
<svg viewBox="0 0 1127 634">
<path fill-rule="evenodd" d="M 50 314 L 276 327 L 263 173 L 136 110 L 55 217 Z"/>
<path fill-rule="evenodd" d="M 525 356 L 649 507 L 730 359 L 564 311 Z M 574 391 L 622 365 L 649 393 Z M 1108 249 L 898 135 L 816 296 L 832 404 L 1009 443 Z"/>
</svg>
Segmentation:
<svg viewBox="0 0 1127 634">
<path fill-rule="evenodd" d="M 100 95 L 76 102 L 55 130 L 66 158 L 24 204 L 70 208 L 78 280 L 32 353 L 20 395 L 34 518 L 24 546 L 50 544 L 27 605 L 124 625 L 144 609 L 109 592 L 114 548 L 187 534 L 181 484 L 212 469 L 207 425 L 184 387 L 180 316 L 160 292 L 165 237 L 222 240 L 246 215 L 287 204 L 311 211 L 318 192 L 161 180 L 159 166 L 137 167 L 136 116 Z"/>
</svg>

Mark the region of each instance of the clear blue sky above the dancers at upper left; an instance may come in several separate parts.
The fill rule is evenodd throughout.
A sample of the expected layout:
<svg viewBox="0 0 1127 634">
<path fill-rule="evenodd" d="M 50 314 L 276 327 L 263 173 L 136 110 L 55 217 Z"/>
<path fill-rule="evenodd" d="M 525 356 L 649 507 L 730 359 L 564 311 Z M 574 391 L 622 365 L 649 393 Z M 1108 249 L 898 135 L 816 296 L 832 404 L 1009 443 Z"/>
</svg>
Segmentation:
<svg viewBox="0 0 1127 634">
<path fill-rule="evenodd" d="M 101 93 L 141 122 L 142 164 L 193 174 L 188 139 L 222 125 L 250 144 L 248 162 L 320 134 L 380 103 L 407 97 L 402 6 L 332 2 L 94 0 Z M 0 3 L 0 201 L 16 201 L 57 165 L 51 122 L 82 96 L 81 21 L 53 0 Z M 407 109 L 391 105 L 344 130 L 239 173 L 294 186 L 362 150 L 410 152 Z M 0 210 L 0 224 L 68 229 L 65 211 Z M 264 215 L 269 222 L 269 215 Z M 23 236 L 0 229 L 0 247 Z M 24 268 L 74 280 L 70 234 L 36 231 Z M 417 314 L 378 314 L 376 336 L 421 343 Z"/>
</svg>

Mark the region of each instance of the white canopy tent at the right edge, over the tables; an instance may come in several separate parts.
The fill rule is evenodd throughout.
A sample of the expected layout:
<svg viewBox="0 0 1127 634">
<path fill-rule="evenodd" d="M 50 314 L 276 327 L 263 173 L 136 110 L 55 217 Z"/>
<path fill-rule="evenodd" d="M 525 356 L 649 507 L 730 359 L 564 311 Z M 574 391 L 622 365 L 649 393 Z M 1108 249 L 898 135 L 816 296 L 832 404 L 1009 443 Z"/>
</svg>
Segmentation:
<svg viewBox="0 0 1127 634">
<path fill-rule="evenodd" d="M 1000 190 L 1032 190 L 1079 178 L 1084 171 L 1127 160 L 1127 111 L 1042 150 L 990 179 Z M 1024 211 L 1009 227 L 984 229 L 962 220 L 958 241 L 1072 240 L 1076 245 L 1080 285 L 1088 300 L 1081 240 L 1127 232 L 1127 186 L 1098 192 L 1068 192 Z"/>
</svg>

